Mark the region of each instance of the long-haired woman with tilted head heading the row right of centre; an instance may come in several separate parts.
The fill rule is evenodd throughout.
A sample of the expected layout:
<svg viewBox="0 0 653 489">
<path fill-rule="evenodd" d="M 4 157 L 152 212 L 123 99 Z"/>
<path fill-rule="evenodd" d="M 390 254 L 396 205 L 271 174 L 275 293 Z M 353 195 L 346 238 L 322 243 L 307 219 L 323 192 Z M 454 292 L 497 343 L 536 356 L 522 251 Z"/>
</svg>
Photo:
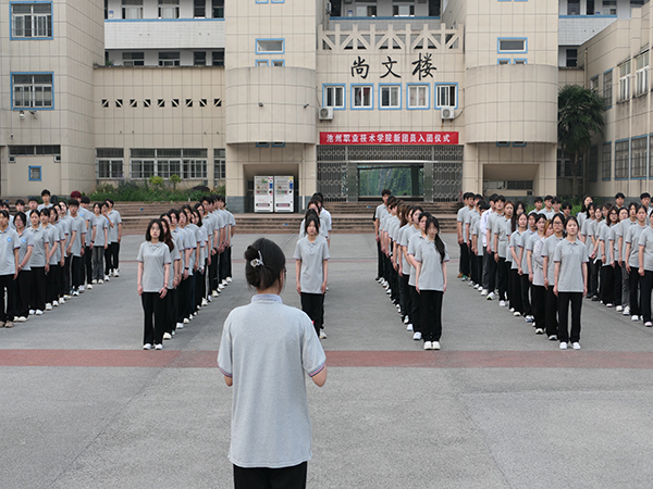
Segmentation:
<svg viewBox="0 0 653 489">
<path fill-rule="evenodd" d="M 421 301 L 421 330 L 424 350 L 440 350 L 442 336 L 442 298 L 446 291 L 446 244 L 440 238 L 440 224 L 435 216 L 426 223 L 427 238 L 420 241 L 415 253 L 415 289 Z"/>
</svg>

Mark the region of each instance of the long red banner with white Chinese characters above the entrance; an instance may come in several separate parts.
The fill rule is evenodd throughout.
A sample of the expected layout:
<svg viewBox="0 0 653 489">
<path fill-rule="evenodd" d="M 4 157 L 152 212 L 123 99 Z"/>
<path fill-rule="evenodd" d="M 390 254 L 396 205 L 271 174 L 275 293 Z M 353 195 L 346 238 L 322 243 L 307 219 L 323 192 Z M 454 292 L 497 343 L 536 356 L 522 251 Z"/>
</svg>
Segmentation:
<svg viewBox="0 0 653 489">
<path fill-rule="evenodd" d="M 458 133 L 320 133 L 320 145 L 457 145 Z"/>
</svg>

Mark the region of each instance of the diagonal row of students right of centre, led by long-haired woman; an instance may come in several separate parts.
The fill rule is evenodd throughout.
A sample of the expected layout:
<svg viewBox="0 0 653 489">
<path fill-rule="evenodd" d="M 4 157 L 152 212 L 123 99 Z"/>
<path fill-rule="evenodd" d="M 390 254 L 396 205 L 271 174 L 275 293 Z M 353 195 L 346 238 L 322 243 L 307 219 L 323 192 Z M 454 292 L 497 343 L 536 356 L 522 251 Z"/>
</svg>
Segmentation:
<svg viewBox="0 0 653 489">
<path fill-rule="evenodd" d="M 377 208 L 377 241 L 382 254 L 377 280 L 395 304 L 412 339 L 424 350 L 440 350 L 442 305 L 448 251 L 440 223 L 419 205 L 409 205 L 385 190 Z"/>
</svg>

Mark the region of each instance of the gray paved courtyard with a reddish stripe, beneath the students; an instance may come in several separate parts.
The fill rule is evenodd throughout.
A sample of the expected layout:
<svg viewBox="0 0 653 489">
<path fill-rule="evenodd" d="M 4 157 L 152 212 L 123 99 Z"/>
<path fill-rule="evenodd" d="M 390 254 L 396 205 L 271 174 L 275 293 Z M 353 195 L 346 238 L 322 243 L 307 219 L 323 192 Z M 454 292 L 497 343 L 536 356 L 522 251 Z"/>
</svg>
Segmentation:
<svg viewBox="0 0 653 489">
<path fill-rule="evenodd" d="M 267 237 L 292 256 L 295 235 Z M 233 284 L 163 351 L 140 350 L 138 236 L 119 278 L 0 329 L 0 488 L 232 487 L 215 359 L 256 238 L 236 235 Z M 443 349 L 426 352 L 373 279 L 373 237 L 333 237 L 309 487 L 650 488 L 653 330 L 584 301 L 583 349 L 559 351 L 457 280 L 445 241 Z"/>
</svg>

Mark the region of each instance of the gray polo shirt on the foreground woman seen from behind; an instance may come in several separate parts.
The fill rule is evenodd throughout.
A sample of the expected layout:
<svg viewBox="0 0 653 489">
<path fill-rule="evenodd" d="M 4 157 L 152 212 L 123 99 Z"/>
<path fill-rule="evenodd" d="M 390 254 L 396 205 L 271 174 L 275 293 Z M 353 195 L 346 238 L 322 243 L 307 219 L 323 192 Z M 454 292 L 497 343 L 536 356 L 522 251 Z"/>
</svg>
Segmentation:
<svg viewBox="0 0 653 489">
<path fill-rule="evenodd" d="M 308 315 L 279 296 L 257 294 L 222 329 L 218 367 L 233 378 L 229 460 L 280 468 L 311 459 L 306 375 L 326 361 Z"/>
</svg>

